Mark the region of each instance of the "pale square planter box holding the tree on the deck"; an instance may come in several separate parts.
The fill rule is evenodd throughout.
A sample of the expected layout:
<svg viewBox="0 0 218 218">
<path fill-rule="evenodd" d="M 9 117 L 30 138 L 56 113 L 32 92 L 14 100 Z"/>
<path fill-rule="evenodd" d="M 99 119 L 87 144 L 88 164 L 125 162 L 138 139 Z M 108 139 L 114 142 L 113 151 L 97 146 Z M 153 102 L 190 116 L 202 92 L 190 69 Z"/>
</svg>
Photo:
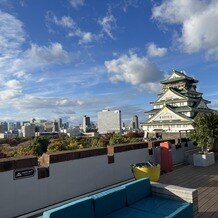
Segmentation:
<svg viewBox="0 0 218 218">
<path fill-rule="evenodd" d="M 215 163 L 214 152 L 193 154 L 194 166 L 206 167 Z"/>
</svg>

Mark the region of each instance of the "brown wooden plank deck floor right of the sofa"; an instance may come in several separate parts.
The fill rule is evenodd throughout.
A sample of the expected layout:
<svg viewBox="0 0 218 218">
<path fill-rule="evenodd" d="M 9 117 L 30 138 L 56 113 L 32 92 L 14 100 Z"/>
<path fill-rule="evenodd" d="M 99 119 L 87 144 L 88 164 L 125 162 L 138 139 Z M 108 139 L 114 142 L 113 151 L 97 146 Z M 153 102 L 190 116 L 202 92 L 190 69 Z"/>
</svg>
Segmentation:
<svg viewBox="0 0 218 218">
<path fill-rule="evenodd" d="M 161 183 L 198 190 L 198 216 L 218 218 L 218 161 L 209 167 L 180 167 L 161 175 Z"/>
</svg>

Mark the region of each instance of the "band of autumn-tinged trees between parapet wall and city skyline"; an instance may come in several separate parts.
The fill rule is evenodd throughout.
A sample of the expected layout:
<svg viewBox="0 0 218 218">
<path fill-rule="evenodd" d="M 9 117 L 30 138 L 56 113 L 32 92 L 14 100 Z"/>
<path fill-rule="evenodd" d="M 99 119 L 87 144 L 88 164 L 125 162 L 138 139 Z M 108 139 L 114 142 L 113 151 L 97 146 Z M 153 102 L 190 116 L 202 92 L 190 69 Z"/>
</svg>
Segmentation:
<svg viewBox="0 0 218 218">
<path fill-rule="evenodd" d="M 143 135 L 142 135 L 143 136 Z M 2 157 L 20 157 L 25 155 L 40 156 L 45 152 L 56 152 L 75 150 L 91 147 L 106 147 L 107 145 L 133 143 L 142 140 L 142 136 L 138 133 L 128 133 L 123 136 L 121 134 L 106 134 L 98 137 L 69 137 L 61 135 L 61 137 L 43 137 L 38 136 L 30 138 L 15 138 L 0 140 L 0 158 Z"/>
</svg>

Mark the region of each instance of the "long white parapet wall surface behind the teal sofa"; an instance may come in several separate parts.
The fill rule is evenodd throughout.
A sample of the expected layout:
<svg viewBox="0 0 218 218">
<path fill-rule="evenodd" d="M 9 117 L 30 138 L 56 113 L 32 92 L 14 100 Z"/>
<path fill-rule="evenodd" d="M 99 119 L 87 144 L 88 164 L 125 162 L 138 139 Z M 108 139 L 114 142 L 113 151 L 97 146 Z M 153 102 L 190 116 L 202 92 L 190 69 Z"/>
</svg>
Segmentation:
<svg viewBox="0 0 218 218">
<path fill-rule="evenodd" d="M 173 163 L 182 161 L 184 149 L 172 149 Z M 22 215 L 46 206 L 107 187 L 133 177 L 130 164 L 155 161 L 148 149 L 115 153 L 108 164 L 107 155 L 50 164 L 50 176 L 13 180 L 13 171 L 0 173 L 0 217 Z M 36 169 L 37 170 L 37 169 Z"/>
</svg>

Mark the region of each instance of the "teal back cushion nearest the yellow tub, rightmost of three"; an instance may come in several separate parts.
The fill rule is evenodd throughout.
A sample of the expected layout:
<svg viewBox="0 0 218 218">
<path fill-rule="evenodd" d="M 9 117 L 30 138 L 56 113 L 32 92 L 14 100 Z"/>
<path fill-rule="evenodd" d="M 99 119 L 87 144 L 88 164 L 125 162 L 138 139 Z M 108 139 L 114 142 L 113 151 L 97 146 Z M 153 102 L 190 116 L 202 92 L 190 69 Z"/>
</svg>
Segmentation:
<svg viewBox="0 0 218 218">
<path fill-rule="evenodd" d="M 151 184 L 148 178 L 135 180 L 126 185 L 127 205 L 131 205 L 151 194 Z"/>
</svg>

